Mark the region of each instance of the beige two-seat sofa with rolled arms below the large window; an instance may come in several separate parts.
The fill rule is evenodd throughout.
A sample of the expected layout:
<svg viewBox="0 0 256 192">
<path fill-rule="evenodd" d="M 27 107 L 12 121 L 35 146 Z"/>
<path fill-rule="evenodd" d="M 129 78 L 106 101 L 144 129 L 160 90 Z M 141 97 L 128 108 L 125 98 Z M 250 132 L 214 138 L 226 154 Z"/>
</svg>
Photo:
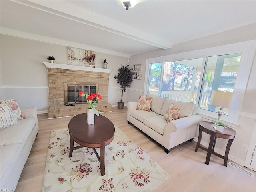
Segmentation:
<svg viewBox="0 0 256 192">
<path fill-rule="evenodd" d="M 198 124 L 203 120 L 196 115 L 194 103 L 175 101 L 150 93 L 146 96 L 153 98 L 152 111 L 136 110 L 137 102 L 128 102 L 126 104 L 128 124 L 132 123 L 164 146 L 166 153 L 185 141 L 193 140 Z M 164 115 L 170 104 L 175 104 L 180 108 L 180 115 L 178 119 L 167 122 Z"/>
</svg>

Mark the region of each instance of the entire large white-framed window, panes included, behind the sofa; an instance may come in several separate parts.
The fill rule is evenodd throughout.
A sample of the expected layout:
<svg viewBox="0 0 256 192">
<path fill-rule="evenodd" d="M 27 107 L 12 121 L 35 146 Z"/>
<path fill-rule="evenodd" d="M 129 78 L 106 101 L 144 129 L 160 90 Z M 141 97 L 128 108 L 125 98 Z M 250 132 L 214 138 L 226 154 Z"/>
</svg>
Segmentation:
<svg viewBox="0 0 256 192">
<path fill-rule="evenodd" d="M 194 102 L 198 114 L 216 120 L 219 108 L 208 104 L 212 90 L 237 92 L 240 93 L 238 109 L 225 109 L 221 117 L 225 122 L 236 124 L 254 52 L 255 40 L 252 40 L 148 59 L 144 94 L 150 92 Z"/>
</svg>

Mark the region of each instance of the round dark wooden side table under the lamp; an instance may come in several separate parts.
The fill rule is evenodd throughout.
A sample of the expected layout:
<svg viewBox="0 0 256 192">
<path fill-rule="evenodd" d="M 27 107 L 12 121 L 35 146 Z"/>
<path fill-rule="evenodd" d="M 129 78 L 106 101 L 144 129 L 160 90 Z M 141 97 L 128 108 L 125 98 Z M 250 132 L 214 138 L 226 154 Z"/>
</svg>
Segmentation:
<svg viewBox="0 0 256 192">
<path fill-rule="evenodd" d="M 214 124 L 214 123 L 208 122 L 208 121 L 202 121 L 199 123 L 199 135 L 198 135 L 198 141 L 196 144 L 195 152 L 197 152 L 198 148 L 201 148 L 201 149 L 207 151 L 207 156 L 206 156 L 206 161 L 205 161 L 206 165 L 209 165 L 211 154 L 214 154 L 214 155 L 224 159 L 224 166 L 228 166 L 228 153 L 229 153 L 231 144 L 234 141 L 234 138 L 236 136 L 236 132 L 229 127 L 225 128 L 223 132 L 219 132 L 219 131 L 216 131 L 214 127 L 212 127 L 212 124 Z M 211 136 L 208 149 L 203 146 L 200 146 L 203 132 L 205 132 Z M 222 156 L 222 155 L 214 152 L 214 147 L 215 147 L 217 138 L 228 139 L 225 156 Z"/>
</svg>

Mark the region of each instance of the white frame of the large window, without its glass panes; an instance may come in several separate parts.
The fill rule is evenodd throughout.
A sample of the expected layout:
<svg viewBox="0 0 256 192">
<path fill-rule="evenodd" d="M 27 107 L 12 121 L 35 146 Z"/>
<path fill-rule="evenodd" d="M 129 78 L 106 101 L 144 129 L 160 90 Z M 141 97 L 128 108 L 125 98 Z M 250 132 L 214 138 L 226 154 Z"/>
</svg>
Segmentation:
<svg viewBox="0 0 256 192">
<path fill-rule="evenodd" d="M 172 54 L 167 56 L 160 56 L 156 58 L 149 58 L 146 60 L 146 74 L 145 74 L 145 84 L 144 84 L 144 95 L 148 92 L 148 77 L 149 77 L 149 66 L 153 62 L 166 62 L 166 61 L 180 61 L 188 59 L 203 58 L 201 77 L 198 87 L 198 94 L 196 97 L 196 104 L 198 106 L 200 98 L 200 90 L 203 81 L 203 73 L 205 67 L 206 57 L 218 56 L 224 54 L 242 53 L 240 60 L 238 74 L 236 77 L 236 84 L 234 87 L 234 92 L 239 93 L 238 104 L 236 109 L 230 109 L 228 115 L 222 115 L 221 120 L 224 121 L 228 126 L 236 127 L 238 125 L 238 118 L 242 108 L 242 102 L 244 100 L 244 93 L 246 91 L 246 85 L 248 83 L 248 78 L 250 74 L 250 69 L 252 67 L 252 62 L 255 54 L 256 40 L 250 40 L 246 42 L 240 42 L 235 44 L 228 44 L 224 46 L 217 46 L 212 48 L 206 48 L 201 50 L 195 50 L 190 52 Z M 216 121 L 218 119 L 218 114 L 216 112 L 204 110 L 197 108 L 197 114 L 206 118 L 208 120 Z"/>
</svg>

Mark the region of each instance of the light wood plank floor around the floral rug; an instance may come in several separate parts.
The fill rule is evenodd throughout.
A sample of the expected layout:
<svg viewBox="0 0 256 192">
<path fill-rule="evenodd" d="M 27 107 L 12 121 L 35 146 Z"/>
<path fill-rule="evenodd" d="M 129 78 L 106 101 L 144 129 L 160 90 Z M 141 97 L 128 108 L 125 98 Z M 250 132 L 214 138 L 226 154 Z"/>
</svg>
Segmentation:
<svg viewBox="0 0 256 192">
<path fill-rule="evenodd" d="M 198 152 L 195 152 L 196 142 L 194 141 L 180 144 L 166 154 L 162 146 L 132 124 L 127 124 L 126 111 L 126 107 L 123 110 L 114 107 L 113 112 L 102 113 L 102 115 L 109 118 L 168 172 L 170 178 L 154 191 L 256 191 L 255 176 L 251 178 L 229 165 L 225 167 L 223 159 L 212 155 L 210 164 L 208 166 L 204 164 L 206 151 L 198 149 Z M 15 192 L 41 191 L 50 131 L 68 128 L 71 118 L 48 119 L 48 114 L 38 115 L 39 133 Z"/>
</svg>

